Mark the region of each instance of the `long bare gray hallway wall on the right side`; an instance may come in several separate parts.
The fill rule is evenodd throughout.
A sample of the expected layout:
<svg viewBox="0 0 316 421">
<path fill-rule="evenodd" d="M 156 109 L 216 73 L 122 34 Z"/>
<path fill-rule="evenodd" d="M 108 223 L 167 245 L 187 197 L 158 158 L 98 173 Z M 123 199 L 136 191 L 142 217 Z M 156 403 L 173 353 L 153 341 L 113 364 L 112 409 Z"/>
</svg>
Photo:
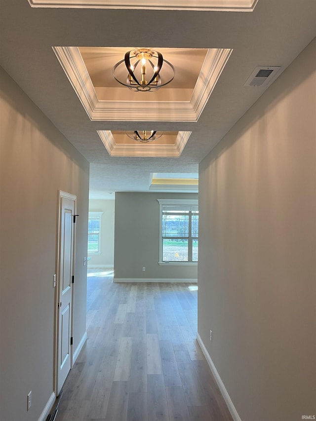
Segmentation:
<svg viewBox="0 0 316 421">
<path fill-rule="evenodd" d="M 242 421 L 316 415 L 315 183 L 314 39 L 199 167 L 198 332 Z"/>
</svg>

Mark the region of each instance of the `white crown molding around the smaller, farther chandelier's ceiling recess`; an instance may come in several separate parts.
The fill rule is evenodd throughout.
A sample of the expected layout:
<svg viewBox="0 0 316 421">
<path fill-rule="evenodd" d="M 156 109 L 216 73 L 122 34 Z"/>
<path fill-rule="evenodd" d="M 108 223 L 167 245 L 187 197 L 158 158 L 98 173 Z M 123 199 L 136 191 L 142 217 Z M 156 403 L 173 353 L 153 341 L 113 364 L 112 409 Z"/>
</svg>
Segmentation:
<svg viewBox="0 0 316 421">
<path fill-rule="evenodd" d="M 117 145 L 111 130 L 97 130 L 103 145 L 110 156 L 139 156 L 139 157 L 179 157 L 192 132 L 178 132 L 174 145 L 150 144 L 119 144 Z"/>
</svg>

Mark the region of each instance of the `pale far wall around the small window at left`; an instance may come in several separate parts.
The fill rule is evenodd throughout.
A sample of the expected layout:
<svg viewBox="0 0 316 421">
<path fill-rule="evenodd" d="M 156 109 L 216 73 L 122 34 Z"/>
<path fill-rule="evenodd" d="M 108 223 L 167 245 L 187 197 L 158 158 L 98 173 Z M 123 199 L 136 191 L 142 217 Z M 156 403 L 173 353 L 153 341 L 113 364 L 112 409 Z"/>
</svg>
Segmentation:
<svg viewBox="0 0 316 421">
<path fill-rule="evenodd" d="M 114 210 L 115 200 L 89 200 L 89 212 L 103 212 L 101 217 L 101 253 L 89 253 L 89 267 L 102 268 L 114 266 Z"/>
</svg>

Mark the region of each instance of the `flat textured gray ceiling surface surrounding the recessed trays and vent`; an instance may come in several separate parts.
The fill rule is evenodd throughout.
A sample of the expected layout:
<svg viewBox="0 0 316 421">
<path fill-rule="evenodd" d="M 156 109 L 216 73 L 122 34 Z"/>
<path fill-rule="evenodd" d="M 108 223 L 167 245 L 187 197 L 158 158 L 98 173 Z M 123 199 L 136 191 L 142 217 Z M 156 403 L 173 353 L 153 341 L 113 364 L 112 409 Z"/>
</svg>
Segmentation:
<svg viewBox="0 0 316 421">
<path fill-rule="evenodd" d="M 243 86 L 254 68 L 281 66 L 281 74 L 315 38 L 315 22 L 315 0 L 259 0 L 246 13 L 32 8 L 27 0 L 0 0 L 0 64 L 90 162 L 91 197 L 104 197 L 149 191 L 153 172 L 196 173 L 269 86 Z M 91 121 L 52 46 L 131 45 L 233 52 L 197 122 Z M 110 156 L 97 132 L 152 129 L 192 134 L 180 157 L 145 158 Z"/>
</svg>

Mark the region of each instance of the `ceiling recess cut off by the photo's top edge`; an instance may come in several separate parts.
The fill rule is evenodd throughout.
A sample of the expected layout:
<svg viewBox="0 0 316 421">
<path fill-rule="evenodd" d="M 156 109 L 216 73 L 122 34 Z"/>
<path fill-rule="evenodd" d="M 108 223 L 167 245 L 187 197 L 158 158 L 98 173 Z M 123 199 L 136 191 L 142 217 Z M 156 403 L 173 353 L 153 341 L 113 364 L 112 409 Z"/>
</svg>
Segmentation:
<svg viewBox="0 0 316 421">
<path fill-rule="evenodd" d="M 32 7 L 252 12 L 258 0 L 28 0 Z"/>
</svg>

